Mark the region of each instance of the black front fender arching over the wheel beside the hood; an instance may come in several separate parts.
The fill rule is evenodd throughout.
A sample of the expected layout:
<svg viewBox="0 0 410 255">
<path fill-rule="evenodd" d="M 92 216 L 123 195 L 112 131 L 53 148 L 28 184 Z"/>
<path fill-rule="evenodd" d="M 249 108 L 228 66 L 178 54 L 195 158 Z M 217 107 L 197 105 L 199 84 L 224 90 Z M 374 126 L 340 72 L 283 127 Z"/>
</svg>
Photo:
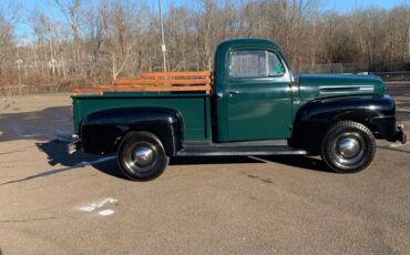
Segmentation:
<svg viewBox="0 0 410 255">
<path fill-rule="evenodd" d="M 378 137 L 396 135 L 396 105 L 389 95 L 340 96 L 314 100 L 299 109 L 293 131 L 294 146 L 318 152 L 327 130 L 339 121 L 356 121 Z"/>
</svg>

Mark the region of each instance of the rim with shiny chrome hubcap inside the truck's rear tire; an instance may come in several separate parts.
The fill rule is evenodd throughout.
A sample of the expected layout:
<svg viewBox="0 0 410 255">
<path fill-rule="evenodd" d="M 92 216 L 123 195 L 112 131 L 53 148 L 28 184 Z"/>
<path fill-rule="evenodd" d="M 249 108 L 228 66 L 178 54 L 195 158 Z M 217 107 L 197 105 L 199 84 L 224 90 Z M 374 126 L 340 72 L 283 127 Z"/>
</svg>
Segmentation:
<svg viewBox="0 0 410 255">
<path fill-rule="evenodd" d="M 137 143 L 126 150 L 124 163 L 131 172 L 150 172 L 155 165 L 157 154 L 153 144 Z"/>
</svg>

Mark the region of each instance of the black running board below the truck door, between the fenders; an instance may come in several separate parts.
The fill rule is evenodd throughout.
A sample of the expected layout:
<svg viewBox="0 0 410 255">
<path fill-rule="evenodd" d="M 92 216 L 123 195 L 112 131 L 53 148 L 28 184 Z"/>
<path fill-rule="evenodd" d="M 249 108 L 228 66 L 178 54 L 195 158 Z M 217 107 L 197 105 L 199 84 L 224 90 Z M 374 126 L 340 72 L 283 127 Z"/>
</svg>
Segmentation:
<svg viewBox="0 0 410 255">
<path fill-rule="evenodd" d="M 287 145 L 253 145 L 228 146 L 211 144 L 207 146 L 187 145 L 176 153 L 177 156 L 257 156 L 257 155 L 307 155 L 305 150 L 296 150 Z"/>
</svg>

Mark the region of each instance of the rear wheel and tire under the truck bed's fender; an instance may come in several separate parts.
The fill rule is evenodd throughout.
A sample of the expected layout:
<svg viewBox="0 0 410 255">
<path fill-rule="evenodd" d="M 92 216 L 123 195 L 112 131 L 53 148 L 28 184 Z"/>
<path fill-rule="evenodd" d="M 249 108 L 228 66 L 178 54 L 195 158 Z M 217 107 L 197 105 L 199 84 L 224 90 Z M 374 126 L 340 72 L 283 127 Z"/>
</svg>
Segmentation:
<svg viewBox="0 0 410 255">
<path fill-rule="evenodd" d="M 150 132 L 126 134 L 120 144 L 117 157 L 121 170 L 133 181 L 156 178 L 170 161 L 160 139 Z"/>
</svg>

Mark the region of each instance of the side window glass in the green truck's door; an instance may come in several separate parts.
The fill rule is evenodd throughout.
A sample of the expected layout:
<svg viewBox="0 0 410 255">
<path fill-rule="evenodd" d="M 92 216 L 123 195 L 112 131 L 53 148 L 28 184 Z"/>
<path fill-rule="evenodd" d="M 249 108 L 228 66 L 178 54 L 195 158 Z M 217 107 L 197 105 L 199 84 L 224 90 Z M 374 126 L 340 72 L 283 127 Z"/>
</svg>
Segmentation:
<svg viewBox="0 0 410 255">
<path fill-rule="evenodd" d="M 248 50 L 230 53 L 230 78 L 280 76 L 285 73 L 278 57 L 269 51 Z"/>
</svg>

